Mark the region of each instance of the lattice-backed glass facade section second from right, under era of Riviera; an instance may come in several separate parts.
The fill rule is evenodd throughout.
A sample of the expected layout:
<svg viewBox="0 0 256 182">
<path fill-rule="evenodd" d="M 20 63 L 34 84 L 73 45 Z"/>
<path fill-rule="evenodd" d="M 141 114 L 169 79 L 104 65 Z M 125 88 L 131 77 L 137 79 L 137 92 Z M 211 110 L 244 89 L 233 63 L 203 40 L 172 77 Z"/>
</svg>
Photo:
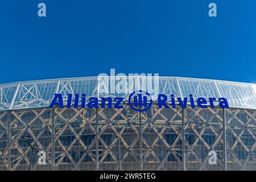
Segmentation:
<svg viewBox="0 0 256 182">
<path fill-rule="evenodd" d="M 186 170 L 224 169 L 222 116 L 222 109 L 184 110 Z"/>
</svg>

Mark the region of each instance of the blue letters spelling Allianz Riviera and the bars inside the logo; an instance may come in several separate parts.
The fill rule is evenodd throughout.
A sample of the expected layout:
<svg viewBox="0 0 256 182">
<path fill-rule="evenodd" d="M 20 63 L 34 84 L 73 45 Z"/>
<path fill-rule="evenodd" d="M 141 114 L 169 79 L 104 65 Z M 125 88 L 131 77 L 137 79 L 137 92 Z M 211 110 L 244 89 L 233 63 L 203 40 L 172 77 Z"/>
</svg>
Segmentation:
<svg viewBox="0 0 256 182">
<path fill-rule="evenodd" d="M 55 93 L 54 94 L 55 97 L 53 98 L 51 104 L 49 105 L 49 108 L 54 107 L 55 105 L 59 105 L 60 108 L 64 108 L 64 102 L 63 102 L 63 97 L 60 93 Z M 78 108 L 80 105 L 80 100 L 79 100 L 79 94 L 73 94 L 75 96 L 74 101 L 74 108 Z M 71 108 L 72 106 L 72 94 L 67 94 L 67 108 Z M 150 96 L 148 94 L 148 96 Z M 134 103 L 133 103 L 133 107 L 147 107 L 148 101 L 147 101 L 147 96 L 142 96 L 142 94 L 137 94 L 137 96 L 134 96 Z M 105 108 L 106 104 L 108 104 L 108 108 L 112 108 L 112 102 L 113 99 L 115 101 L 114 104 L 114 108 L 116 109 L 120 109 L 123 108 L 122 105 L 122 101 L 123 101 L 123 97 L 101 97 L 101 108 Z M 214 109 L 214 101 L 216 101 L 215 97 L 209 97 L 209 105 L 210 108 Z M 166 94 L 159 94 L 158 95 L 158 107 L 162 108 L 170 108 L 170 106 L 168 105 L 168 97 L 166 96 Z M 85 108 L 85 102 L 86 102 L 86 94 L 81 94 L 81 108 Z M 175 97 L 174 94 L 171 94 L 171 107 L 172 108 L 176 108 L 176 101 L 175 101 Z M 184 100 L 181 100 L 180 97 L 177 97 L 177 102 L 179 103 L 179 105 L 181 106 L 181 108 L 185 109 L 188 103 L 188 97 L 184 97 Z M 192 94 L 189 94 L 189 102 L 191 104 L 191 108 L 195 108 L 195 101 L 193 100 L 193 96 Z M 199 97 L 197 98 L 197 106 L 201 107 L 201 108 L 207 108 L 208 107 L 208 101 L 203 98 L 203 97 Z M 226 98 L 221 97 L 218 98 L 218 105 L 220 106 L 220 108 L 229 108 L 229 104 L 228 101 L 226 100 Z M 150 100 L 150 103 L 152 104 L 152 100 Z M 151 106 L 150 104 L 150 106 Z M 129 100 L 129 105 L 130 104 L 130 100 Z M 148 106 L 148 107 L 150 107 Z M 89 108 L 99 108 L 98 105 L 98 98 L 97 97 L 90 97 L 89 98 L 89 102 L 88 102 L 88 107 Z"/>
</svg>

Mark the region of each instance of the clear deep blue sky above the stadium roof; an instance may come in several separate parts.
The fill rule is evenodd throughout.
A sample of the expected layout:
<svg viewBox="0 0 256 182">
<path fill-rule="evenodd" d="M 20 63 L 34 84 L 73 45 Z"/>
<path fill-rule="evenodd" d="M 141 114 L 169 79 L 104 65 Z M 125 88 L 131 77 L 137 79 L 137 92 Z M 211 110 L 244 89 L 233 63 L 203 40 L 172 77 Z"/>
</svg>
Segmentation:
<svg viewBox="0 0 256 182">
<path fill-rule="evenodd" d="M 110 68 L 255 82 L 255 9 L 255 0 L 1 0 L 0 84 Z"/>
</svg>

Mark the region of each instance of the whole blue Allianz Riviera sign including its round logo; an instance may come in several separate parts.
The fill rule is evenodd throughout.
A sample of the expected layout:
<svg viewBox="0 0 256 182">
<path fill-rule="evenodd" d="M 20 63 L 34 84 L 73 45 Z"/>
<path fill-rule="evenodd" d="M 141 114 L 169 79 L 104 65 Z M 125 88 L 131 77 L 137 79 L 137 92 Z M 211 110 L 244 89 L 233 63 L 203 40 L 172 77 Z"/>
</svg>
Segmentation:
<svg viewBox="0 0 256 182">
<path fill-rule="evenodd" d="M 55 93 L 54 98 L 49 105 L 49 108 L 54 106 L 59 106 L 60 108 L 64 108 L 64 99 L 62 94 Z M 123 108 L 123 104 L 126 104 L 124 97 L 101 97 L 100 100 L 98 97 L 89 97 L 86 98 L 86 94 L 67 94 L 67 108 Z M 166 94 L 158 94 L 156 99 L 156 106 L 159 108 L 176 108 L 176 105 L 179 104 L 183 109 L 190 105 L 191 108 L 195 108 L 195 105 L 201 108 L 207 108 L 210 106 L 214 108 L 214 105 L 219 106 L 220 108 L 229 108 L 228 100 L 224 97 L 215 98 L 215 97 L 199 97 L 194 100 L 193 95 L 189 94 L 189 97 L 175 97 L 174 94 L 170 94 L 168 98 Z M 153 100 L 151 95 L 143 90 L 137 90 L 133 93 L 129 94 L 127 104 L 134 109 L 135 111 L 146 111 L 150 109 L 153 104 Z"/>
</svg>

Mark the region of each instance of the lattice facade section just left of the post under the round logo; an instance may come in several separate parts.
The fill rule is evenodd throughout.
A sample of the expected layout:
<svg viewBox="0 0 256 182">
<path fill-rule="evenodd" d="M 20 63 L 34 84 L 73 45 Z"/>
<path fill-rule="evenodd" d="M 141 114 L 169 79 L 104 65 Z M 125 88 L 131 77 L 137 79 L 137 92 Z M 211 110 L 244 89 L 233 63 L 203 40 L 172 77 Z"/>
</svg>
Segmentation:
<svg viewBox="0 0 256 182">
<path fill-rule="evenodd" d="M 138 123 L 138 113 L 134 112 L 131 109 L 114 109 L 109 113 L 109 109 L 100 109 L 100 123 L 103 123 L 99 131 L 99 140 L 102 146 L 104 146 L 104 151 L 102 152 L 102 157 L 100 160 L 100 167 L 104 165 L 105 159 L 108 155 L 114 162 L 114 169 L 118 169 L 118 154 L 112 152 L 112 148 L 118 146 L 118 138 L 116 136 L 121 136 L 121 144 L 125 147 L 125 152 L 121 154 L 121 165 L 127 161 L 127 158 L 132 158 L 138 164 L 139 153 L 138 153 L 138 138 L 139 131 L 138 126 L 135 123 Z M 104 134 L 109 133 L 110 131 L 114 134 L 110 144 L 106 144 L 106 138 L 103 138 Z M 127 132 L 128 131 L 128 132 Z M 127 138 L 128 135 L 135 135 L 131 139 Z"/>
</svg>

